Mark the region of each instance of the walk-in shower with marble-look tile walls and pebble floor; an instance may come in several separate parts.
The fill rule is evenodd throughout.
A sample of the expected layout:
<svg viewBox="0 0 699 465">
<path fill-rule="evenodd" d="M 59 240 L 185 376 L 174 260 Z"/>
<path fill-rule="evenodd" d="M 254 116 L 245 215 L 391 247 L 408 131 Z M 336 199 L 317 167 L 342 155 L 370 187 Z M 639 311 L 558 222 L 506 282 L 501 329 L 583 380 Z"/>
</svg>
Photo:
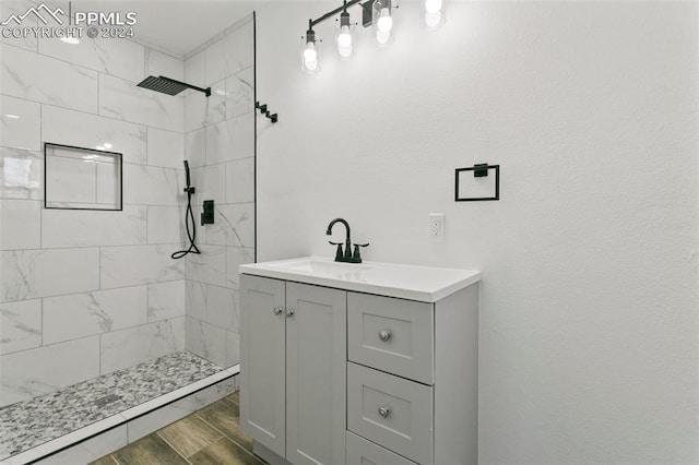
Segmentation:
<svg viewBox="0 0 699 465">
<path fill-rule="evenodd" d="M 3 464 L 86 464 L 235 391 L 256 253 L 254 16 L 171 55 L 49 41 L 0 57 L 0 165 L 27 178 L 0 179 Z M 122 154 L 122 208 L 44 208 L 44 141 Z M 114 196 L 93 155 L 49 157 L 57 202 Z"/>
</svg>

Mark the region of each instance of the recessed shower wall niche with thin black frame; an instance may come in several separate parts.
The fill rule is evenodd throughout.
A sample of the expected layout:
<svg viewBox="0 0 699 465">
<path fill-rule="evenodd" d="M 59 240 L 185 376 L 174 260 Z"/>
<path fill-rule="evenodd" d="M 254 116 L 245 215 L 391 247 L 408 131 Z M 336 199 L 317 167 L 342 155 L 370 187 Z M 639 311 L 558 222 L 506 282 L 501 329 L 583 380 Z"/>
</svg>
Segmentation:
<svg viewBox="0 0 699 465">
<path fill-rule="evenodd" d="M 121 154 L 61 144 L 44 144 L 44 206 L 68 210 L 121 210 Z"/>
</svg>

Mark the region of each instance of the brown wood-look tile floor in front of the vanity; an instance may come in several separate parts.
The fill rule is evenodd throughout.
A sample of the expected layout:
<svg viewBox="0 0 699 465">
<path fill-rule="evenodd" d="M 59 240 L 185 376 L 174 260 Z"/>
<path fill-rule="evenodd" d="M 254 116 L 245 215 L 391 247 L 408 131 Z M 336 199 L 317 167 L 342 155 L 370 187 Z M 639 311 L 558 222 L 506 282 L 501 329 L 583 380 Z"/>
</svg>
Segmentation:
<svg viewBox="0 0 699 465">
<path fill-rule="evenodd" d="M 239 422 L 233 393 L 91 465 L 262 465 Z"/>
</svg>

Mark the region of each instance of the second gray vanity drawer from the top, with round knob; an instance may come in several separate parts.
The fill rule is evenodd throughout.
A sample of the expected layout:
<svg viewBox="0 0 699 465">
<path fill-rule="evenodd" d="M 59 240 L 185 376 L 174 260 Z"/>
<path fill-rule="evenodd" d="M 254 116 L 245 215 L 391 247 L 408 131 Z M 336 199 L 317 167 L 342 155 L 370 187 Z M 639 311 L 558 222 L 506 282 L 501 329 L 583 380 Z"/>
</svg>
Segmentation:
<svg viewBox="0 0 699 465">
<path fill-rule="evenodd" d="M 433 388 L 347 362 L 347 429 L 433 463 Z"/>
</svg>

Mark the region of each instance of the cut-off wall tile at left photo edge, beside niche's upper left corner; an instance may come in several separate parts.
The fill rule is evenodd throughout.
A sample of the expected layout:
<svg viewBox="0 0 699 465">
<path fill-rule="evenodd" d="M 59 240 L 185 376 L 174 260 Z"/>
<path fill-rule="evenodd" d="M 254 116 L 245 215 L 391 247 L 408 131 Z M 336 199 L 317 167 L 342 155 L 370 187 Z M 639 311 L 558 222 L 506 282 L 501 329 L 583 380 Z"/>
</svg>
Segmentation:
<svg viewBox="0 0 699 465">
<path fill-rule="evenodd" d="M 0 82 L 0 92 L 5 92 Z M 0 95 L 0 145 L 38 151 L 40 141 L 40 105 L 22 98 Z"/>
</svg>

